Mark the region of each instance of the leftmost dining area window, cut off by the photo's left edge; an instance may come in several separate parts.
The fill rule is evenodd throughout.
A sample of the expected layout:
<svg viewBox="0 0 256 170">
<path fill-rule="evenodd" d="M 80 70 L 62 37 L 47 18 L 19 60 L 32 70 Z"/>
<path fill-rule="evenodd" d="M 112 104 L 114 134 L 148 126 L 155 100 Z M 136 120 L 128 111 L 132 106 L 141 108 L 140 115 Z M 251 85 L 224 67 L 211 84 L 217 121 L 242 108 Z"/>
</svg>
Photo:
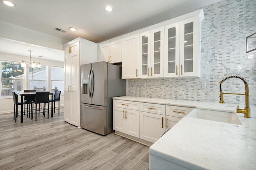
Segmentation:
<svg viewBox="0 0 256 170">
<path fill-rule="evenodd" d="M 20 63 L 1 61 L 1 97 L 24 89 L 24 69 Z"/>
</svg>

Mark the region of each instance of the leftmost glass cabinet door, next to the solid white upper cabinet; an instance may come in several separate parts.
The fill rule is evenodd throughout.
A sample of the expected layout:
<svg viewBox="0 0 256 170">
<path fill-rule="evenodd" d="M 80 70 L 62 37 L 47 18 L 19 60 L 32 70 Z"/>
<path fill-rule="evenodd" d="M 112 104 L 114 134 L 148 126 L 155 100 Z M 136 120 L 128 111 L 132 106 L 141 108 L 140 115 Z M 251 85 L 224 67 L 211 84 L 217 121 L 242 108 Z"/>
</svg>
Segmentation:
<svg viewBox="0 0 256 170">
<path fill-rule="evenodd" d="M 150 77 L 150 31 L 140 34 L 140 78 Z"/>
</svg>

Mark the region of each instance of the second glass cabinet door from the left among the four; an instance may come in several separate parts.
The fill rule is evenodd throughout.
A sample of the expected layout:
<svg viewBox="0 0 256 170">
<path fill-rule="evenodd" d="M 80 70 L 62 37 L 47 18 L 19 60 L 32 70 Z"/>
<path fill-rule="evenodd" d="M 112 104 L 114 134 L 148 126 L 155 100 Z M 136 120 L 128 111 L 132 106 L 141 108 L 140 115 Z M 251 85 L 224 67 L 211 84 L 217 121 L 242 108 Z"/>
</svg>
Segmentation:
<svg viewBox="0 0 256 170">
<path fill-rule="evenodd" d="M 164 27 L 151 31 L 151 77 L 164 76 Z"/>
</svg>

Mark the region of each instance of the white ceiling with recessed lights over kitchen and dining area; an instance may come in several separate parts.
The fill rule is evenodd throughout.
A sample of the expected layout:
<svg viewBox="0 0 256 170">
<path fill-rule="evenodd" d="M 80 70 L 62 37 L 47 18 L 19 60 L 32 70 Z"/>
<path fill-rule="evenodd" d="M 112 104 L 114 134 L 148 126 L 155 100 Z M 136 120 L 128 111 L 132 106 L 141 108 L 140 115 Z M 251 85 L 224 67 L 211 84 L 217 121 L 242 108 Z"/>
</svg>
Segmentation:
<svg viewBox="0 0 256 170">
<path fill-rule="evenodd" d="M 0 20 L 25 27 L 34 31 L 52 35 L 71 41 L 77 37 L 88 39 L 95 43 L 123 35 L 171 18 L 198 10 L 220 0 L 11 0 L 16 4 L 9 7 L 0 3 Z M 104 11 L 106 5 L 111 5 L 112 12 Z M 64 29 L 66 33 L 56 31 Z M 70 31 L 76 27 L 77 31 Z M 56 50 L 32 46 L 29 44 L 0 39 L 0 46 L 13 45 L 12 50 L 0 52 L 19 54 L 20 49 L 33 51 L 37 57 L 46 56 L 56 60 Z M 15 46 L 14 46 L 15 45 Z M 15 48 L 14 48 L 15 47 Z M 42 48 L 41 51 L 38 51 Z M 10 49 L 10 48 L 9 48 Z M 46 51 L 44 53 L 44 51 Z M 25 52 L 24 52 L 25 53 Z M 51 55 L 50 53 L 55 53 Z M 63 56 L 63 52 L 60 53 Z M 59 54 L 59 55 L 60 55 Z M 62 57 L 63 58 L 63 57 Z M 63 61 L 63 60 L 62 60 Z"/>
</svg>

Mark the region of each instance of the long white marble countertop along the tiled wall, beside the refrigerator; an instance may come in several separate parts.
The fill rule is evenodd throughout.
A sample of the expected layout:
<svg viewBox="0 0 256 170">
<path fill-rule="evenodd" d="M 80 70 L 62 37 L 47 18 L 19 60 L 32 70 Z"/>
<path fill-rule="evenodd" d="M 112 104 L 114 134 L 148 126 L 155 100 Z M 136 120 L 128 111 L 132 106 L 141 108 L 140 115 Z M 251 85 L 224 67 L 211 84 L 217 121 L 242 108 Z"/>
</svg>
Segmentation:
<svg viewBox="0 0 256 170">
<path fill-rule="evenodd" d="M 197 101 L 190 101 L 190 100 L 172 100 L 172 99 L 144 98 L 144 97 L 133 97 L 133 96 L 114 97 L 113 99 L 128 100 L 133 102 L 153 103 L 153 104 L 164 104 L 164 105 L 171 105 L 171 106 L 192 107 L 192 108 L 196 108 L 196 106 L 200 103 Z"/>
</svg>

